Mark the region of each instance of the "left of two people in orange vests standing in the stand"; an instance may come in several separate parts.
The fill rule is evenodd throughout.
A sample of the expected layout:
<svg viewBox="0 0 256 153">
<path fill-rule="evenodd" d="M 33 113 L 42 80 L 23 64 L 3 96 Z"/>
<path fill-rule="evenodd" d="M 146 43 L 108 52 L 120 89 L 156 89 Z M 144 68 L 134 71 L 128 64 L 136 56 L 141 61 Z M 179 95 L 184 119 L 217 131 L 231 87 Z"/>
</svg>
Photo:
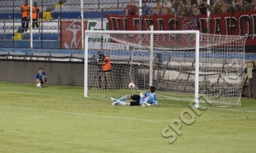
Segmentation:
<svg viewBox="0 0 256 153">
<path fill-rule="evenodd" d="M 30 22 L 30 5 L 28 5 L 28 1 L 25 1 L 25 4 L 21 7 L 22 13 L 22 32 L 27 31 L 28 23 Z"/>
</svg>

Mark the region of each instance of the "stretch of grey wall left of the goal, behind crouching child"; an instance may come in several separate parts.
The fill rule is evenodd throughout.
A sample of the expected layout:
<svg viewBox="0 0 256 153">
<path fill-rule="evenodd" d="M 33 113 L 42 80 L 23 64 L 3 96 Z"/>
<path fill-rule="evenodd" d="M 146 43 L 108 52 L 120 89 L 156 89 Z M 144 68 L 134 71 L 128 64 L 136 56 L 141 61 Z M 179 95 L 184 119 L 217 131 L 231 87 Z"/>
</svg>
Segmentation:
<svg viewBox="0 0 256 153">
<path fill-rule="evenodd" d="M 42 67 L 47 74 L 47 84 L 84 85 L 83 62 L 0 60 L 0 80 L 34 83 Z"/>
</svg>

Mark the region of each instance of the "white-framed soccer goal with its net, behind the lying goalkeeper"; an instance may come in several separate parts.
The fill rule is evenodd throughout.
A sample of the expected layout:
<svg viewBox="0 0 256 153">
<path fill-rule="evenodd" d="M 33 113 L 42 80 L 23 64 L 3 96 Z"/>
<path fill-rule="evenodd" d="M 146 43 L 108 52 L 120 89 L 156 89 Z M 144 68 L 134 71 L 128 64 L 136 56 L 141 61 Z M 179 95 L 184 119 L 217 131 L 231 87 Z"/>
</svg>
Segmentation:
<svg viewBox="0 0 256 153">
<path fill-rule="evenodd" d="M 153 85 L 159 100 L 240 105 L 245 40 L 199 31 L 85 31 L 84 96 L 120 97 Z M 108 73 L 101 71 L 105 57 Z"/>
</svg>

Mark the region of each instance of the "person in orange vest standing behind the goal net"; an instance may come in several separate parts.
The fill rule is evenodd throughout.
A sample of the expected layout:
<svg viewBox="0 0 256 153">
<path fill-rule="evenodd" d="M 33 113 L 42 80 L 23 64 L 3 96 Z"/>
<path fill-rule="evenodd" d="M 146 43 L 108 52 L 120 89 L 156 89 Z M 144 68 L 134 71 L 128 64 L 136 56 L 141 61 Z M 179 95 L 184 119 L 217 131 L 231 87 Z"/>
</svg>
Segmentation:
<svg viewBox="0 0 256 153">
<path fill-rule="evenodd" d="M 104 73 L 104 80 L 105 80 L 105 89 L 108 89 L 108 85 L 110 83 L 110 75 L 112 71 L 112 66 L 110 62 L 110 58 L 108 55 L 104 57 L 102 61 L 97 61 L 98 64 L 101 65 L 101 71 Z"/>
</svg>

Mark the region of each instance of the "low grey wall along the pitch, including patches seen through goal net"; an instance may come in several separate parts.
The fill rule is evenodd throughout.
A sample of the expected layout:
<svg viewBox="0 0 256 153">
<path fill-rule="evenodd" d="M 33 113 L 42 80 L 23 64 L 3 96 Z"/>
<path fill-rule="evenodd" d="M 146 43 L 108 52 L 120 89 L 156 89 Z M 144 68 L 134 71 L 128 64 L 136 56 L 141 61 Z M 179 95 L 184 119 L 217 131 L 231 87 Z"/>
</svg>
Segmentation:
<svg viewBox="0 0 256 153">
<path fill-rule="evenodd" d="M 120 66 L 122 65 L 122 70 Z M 47 84 L 84 86 L 84 62 L 27 61 L 19 59 L 0 59 L 0 80 L 9 82 L 35 83 L 36 73 L 42 67 L 47 75 Z M 112 88 L 121 88 L 129 84 L 130 65 L 112 64 Z M 88 64 L 88 86 L 99 74 L 96 63 Z M 134 74 L 133 74 L 134 75 Z M 94 81 L 92 87 L 98 87 Z"/>
</svg>

